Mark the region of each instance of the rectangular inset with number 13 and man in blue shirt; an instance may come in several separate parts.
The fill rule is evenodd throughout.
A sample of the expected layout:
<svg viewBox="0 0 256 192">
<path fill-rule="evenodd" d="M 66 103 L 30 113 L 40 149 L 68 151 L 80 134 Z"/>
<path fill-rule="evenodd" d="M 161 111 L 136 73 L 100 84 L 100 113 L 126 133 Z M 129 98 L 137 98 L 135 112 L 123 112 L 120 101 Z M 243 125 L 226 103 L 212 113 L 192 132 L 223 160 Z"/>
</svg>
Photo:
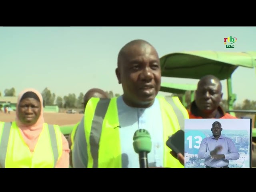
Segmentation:
<svg viewBox="0 0 256 192">
<path fill-rule="evenodd" d="M 250 168 L 251 119 L 186 119 L 185 168 Z"/>
</svg>

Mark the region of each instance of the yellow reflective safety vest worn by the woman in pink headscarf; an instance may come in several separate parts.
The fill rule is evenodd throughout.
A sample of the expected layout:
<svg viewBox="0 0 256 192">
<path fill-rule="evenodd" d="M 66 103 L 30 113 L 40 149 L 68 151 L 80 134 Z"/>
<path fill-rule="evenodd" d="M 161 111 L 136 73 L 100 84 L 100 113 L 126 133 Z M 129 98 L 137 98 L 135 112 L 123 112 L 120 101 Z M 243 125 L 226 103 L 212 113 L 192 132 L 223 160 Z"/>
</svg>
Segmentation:
<svg viewBox="0 0 256 192">
<path fill-rule="evenodd" d="M 59 126 L 44 123 L 31 153 L 16 122 L 0 122 L 0 168 L 54 168 L 61 155 Z"/>
</svg>

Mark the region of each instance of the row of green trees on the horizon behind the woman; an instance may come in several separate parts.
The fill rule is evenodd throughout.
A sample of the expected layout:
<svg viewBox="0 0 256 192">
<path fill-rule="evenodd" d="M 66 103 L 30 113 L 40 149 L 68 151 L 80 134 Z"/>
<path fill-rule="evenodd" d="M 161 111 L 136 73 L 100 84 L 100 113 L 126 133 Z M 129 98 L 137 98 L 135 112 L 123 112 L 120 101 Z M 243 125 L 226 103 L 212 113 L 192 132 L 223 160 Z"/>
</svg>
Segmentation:
<svg viewBox="0 0 256 192">
<path fill-rule="evenodd" d="M 105 91 L 109 98 L 112 98 L 114 96 L 120 96 L 120 94 L 116 93 L 114 94 L 113 91 Z M 84 100 L 84 94 L 83 92 L 80 92 L 78 96 L 74 93 L 69 93 L 65 95 L 64 97 L 56 96 L 54 92 L 52 92 L 48 88 L 44 88 L 42 91 L 42 97 L 44 100 L 45 106 L 58 106 L 59 108 L 83 108 L 82 102 Z M 0 92 L 0 96 L 2 96 L 2 93 Z M 4 96 L 16 96 L 16 90 L 15 88 L 5 89 L 4 90 Z"/>
</svg>

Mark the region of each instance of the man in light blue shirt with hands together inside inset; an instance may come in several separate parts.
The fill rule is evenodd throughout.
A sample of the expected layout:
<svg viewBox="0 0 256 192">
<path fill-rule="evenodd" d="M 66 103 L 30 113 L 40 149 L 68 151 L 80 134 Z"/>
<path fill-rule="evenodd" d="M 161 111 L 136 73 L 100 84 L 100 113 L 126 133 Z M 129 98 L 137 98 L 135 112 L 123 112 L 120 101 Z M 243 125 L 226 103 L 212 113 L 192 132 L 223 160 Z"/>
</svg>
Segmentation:
<svg viewBox="0 0 256 192">
<path fill-rule="evenodd" d="M 202 140 L 198 158 L 204 159 L 206 168 L 228 168 L 229 160 L 237 160 L 240 155 L 230 138 L 221 135 L 220 122 L 212 124 L 212 136 Z"/>
</svg>

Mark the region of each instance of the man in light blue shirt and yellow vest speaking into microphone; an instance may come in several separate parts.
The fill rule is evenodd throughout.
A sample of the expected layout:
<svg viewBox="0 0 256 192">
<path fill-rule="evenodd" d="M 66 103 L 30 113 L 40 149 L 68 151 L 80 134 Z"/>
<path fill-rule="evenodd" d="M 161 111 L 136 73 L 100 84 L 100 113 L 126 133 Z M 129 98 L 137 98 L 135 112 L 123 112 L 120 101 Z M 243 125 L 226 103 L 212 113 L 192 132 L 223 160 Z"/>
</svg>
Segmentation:
<svg viewBox="0 0 256 192">
<path fill-rule="evenodd" d="M 178 97 L 157 96 L 161 66 L 154 46 L 145 40 L 124 45 L 118 54 L 116 77 L 122 96 L 91 98 L 86 105 L 72 150 L 74 168 L 139 168 L 137 152 L 142 150 L 133 147 L 137 130 L 150 133 L 150 168 L 184 168 L 184 159 L 178 154 L 173 157 L 165 142 L 184 128 L 188 112 Z"/>
</svg>

